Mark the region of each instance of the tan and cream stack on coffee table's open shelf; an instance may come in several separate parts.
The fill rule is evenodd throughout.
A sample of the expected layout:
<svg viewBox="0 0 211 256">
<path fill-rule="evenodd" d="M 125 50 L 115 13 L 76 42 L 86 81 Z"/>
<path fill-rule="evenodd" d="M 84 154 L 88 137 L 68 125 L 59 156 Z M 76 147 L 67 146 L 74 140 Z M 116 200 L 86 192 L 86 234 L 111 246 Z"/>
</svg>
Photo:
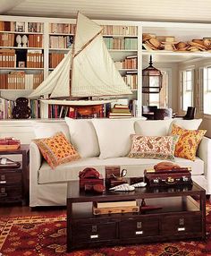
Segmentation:
<svg viewBox="0 0 211 256">
<path fill-rule="evenodd" d="M 137 201 L 101 201 L 93 203 L 93 214 L 139 212 Z"/>
</svg>

